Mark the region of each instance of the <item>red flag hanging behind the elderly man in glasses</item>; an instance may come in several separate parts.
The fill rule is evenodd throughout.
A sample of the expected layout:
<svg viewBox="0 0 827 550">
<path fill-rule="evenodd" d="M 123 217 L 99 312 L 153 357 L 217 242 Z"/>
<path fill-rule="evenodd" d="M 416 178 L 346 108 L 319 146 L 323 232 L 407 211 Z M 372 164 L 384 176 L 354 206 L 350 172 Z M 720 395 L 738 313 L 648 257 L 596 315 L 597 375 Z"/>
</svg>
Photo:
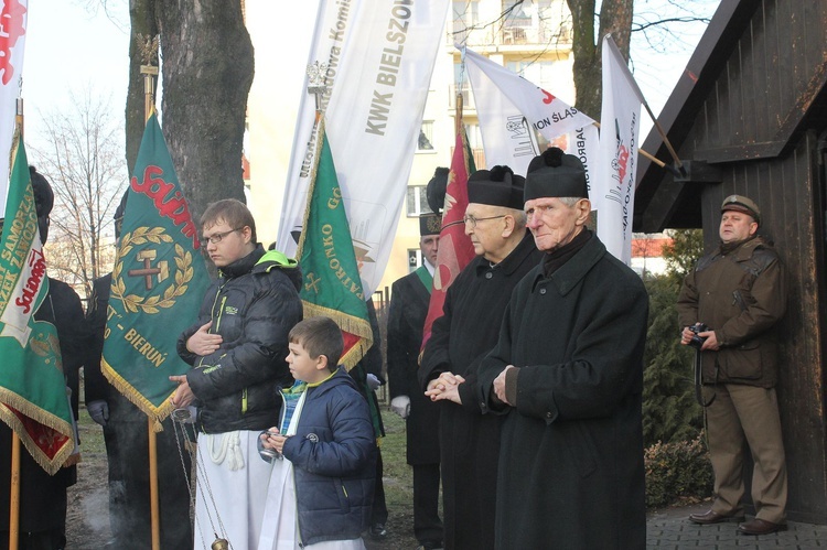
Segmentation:
<svg viewBox="0 0 827 550">
<path fill-rule="evenodd" d="M 442 212 L 442 229 L 439 231 L 439 251 L 437 269 L 433 273 L 433 290 L 428 305 L 428 316 L 422 331 L 422 348 L 431 337 L 433 322 L 442 316 L 448 288 L 460 274 L 460 271 L 474 259 L 474 246 L 465 235 L 465 207 L 468 207 L 468 177 L 474 169 L 474 160 L 468 148 L 465 127 L 460 125 L 457 132 L 451 170 L 445 186 L 445 204 Z"/>
</svg>

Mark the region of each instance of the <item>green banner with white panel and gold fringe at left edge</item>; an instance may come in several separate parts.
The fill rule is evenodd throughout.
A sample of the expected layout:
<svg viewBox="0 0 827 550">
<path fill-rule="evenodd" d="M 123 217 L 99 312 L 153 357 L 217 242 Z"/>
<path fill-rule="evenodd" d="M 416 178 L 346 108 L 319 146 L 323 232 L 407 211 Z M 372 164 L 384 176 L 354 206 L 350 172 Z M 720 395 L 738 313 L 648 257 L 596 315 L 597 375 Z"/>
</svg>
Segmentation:
<svg viewBox="0 0 827 550">
<path fill-rule="evenodd" d="M 49 294 L 29 161 L 21 139 L 0 241 L 0 418 L 54 474 L 74 449 L 57 330 L 35 321 Z M 7 450 L 8 451 L 8 450 Z"/>
</svg>

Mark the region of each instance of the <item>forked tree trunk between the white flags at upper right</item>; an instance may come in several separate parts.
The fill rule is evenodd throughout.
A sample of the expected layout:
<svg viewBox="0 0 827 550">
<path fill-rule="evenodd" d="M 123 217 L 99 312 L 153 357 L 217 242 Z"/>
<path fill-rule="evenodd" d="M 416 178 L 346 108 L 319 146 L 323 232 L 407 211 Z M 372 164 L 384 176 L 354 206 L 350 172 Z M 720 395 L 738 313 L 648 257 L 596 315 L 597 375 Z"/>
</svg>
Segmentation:
<svg viewBox="0 0 827 550">
<path fill-rule="evenodd" d="M 603 36 L 611 33 L 614 42 L 629 60 L 634 0 L 603 1 L 600 8 L 600 30 L 594 36 L 595 0 L 566 0 L 571 11 L 573 26 L 572 53 L 574 55 L 576 106 L 594 120 L 600 120 L 602 88 Z"/>
</svg>

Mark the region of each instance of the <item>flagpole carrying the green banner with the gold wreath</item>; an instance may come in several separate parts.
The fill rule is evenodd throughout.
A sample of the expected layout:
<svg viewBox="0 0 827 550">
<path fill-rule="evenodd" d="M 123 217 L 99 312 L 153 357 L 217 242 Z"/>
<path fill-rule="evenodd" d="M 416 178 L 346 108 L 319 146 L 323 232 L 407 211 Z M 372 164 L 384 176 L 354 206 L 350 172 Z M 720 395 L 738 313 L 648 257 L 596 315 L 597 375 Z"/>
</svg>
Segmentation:
<svg viewBox="0 0 827 550">
<path fill-rule="evenodd" d="M 136 39 L 138 47 L 141 51 L 143 65 L 141 74 L 143 75 L 143 119 L 149 120 L 155 108 L 154 78 L 158 76 L 158 66 L 152 65 L 152 61 L 158 56 L 158 35 L 154 37 L 144 37 L 139 34 Z M 149 433 L 149 499 L 150 499 L 150 518 L 152 525 L 152 550 L 161 548 L 161 515 L 158 504 L 158 435 L 155 434 L 155 419 L 147 414 L 147 431 Z"/>
</svg>

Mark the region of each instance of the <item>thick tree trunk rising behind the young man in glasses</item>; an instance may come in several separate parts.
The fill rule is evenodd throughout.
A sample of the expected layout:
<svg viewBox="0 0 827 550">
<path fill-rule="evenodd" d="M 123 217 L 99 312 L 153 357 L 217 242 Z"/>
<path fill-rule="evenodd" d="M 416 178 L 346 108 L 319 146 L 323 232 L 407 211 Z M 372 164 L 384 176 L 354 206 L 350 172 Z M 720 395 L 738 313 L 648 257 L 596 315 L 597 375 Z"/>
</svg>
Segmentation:
<svg viewBox="0 0 827 550">
<path fill-rule="evenodd" d="M 157 0 L 163 133 L 192 214 L 244 197 L 241 148 L 253 43 L 240 0 Z"/>
</svg>

